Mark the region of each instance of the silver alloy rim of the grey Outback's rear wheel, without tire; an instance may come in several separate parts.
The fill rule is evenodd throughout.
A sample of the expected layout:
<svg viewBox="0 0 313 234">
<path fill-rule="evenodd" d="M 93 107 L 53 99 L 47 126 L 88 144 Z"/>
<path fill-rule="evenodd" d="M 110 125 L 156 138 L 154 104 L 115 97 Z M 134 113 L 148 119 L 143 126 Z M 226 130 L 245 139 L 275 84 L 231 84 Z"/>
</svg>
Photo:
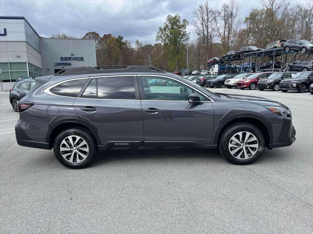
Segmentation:
<svg viewBox="0 0 313 234">
<path fill-rule="evenodd" d="M 71 135 L 62 140 L 60 152 L 68 162 L 79 163 L 88 157 L 89 146 L 83 137 Z"/>
</svg>

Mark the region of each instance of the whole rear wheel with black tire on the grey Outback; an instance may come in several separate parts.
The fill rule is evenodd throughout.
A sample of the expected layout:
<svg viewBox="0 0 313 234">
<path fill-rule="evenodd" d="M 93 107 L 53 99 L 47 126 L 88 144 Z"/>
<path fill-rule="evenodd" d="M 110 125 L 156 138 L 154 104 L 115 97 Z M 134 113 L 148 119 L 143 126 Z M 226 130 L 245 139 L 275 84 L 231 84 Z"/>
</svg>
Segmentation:
<svg viewBox="0 0 313 234">
<path fill-rule="evenodd" d="M 72 147 L 70 141 L 73 142 L 74 147 Z M 69 150 L 61 151 L 61 146 L 62 148 L 68 148 Z M 76 149 L 75 146 L 80 147 Z M 55 157 L 62 165 L 71 169 L 82 169 L 91 164 L 97 154 L 97 147 L 93 138 L 85 130 L 70 128 L 64 130 L 55 138 L 53 151 Z M 84 158 L 82 155 L 85 155 L 86 157 Z"/>
</svg>

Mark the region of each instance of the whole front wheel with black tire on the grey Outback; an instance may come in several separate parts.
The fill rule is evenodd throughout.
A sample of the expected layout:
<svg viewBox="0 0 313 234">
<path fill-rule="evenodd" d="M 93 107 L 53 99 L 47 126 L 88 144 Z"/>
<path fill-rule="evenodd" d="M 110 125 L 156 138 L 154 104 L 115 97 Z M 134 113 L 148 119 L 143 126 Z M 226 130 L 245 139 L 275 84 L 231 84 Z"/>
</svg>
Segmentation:
<svg viewBox="0 0 313 234">
<path fill-rule="evenodd" d="M 236 123 L 225 129 L 221 135 L 219 149 L 229 162 L 247 165 L 255 162 L 262 155 L 265 140 L 261 130 L 256 126 Z"/>
</svg>

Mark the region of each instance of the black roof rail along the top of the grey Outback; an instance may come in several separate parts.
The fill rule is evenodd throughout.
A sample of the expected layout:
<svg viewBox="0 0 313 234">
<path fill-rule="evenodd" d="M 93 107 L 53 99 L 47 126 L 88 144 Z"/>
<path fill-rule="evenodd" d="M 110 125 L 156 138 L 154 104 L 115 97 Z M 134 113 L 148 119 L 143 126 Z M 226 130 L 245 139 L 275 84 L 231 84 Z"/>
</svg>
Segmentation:
<svg viewBox="0 0 313 234">
<path fill-rule="evenodd" d="M 149 66 L 99 66 L 99 67 L 73 67 L 57 72 L 54 76 L 68 76 L 89 73 L 110 73 L 110 72 L 158 72 L 166 73 L 156 67 Z"/>
</svg>

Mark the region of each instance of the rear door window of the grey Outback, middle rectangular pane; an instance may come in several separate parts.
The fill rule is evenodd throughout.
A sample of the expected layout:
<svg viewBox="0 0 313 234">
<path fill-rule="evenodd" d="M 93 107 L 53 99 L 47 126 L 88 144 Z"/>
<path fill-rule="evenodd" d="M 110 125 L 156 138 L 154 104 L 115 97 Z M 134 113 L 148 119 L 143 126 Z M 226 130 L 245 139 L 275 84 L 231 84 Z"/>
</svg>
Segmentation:
<svg viewBox="0 0 313 234">
<path fill-rule="evenodd" d="M 134 77 L 97 78 L 98 98 L 136 99 Z"/>
</svg>

